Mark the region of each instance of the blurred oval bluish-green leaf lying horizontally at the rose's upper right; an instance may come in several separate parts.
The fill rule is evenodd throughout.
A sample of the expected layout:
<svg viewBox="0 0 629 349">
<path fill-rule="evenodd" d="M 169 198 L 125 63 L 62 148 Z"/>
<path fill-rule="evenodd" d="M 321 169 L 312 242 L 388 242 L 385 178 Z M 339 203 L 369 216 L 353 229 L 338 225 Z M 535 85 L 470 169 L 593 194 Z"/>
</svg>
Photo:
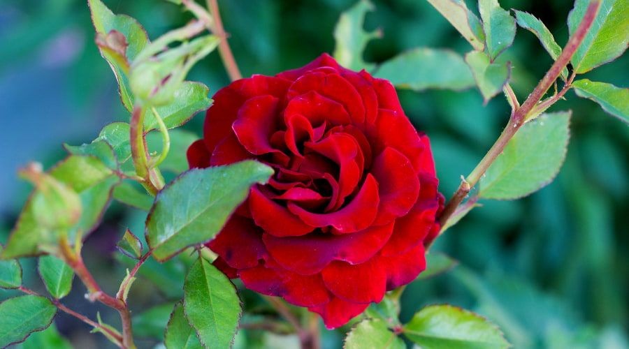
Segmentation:
<svg viewBox="0 0 629 349">
<path fill-rule="evenodd" d="M 467 89 L 474 77 L 463 57 L 450 50 L 417 48 L 399 54 L 379 66 L 376 77 L 401 89 Z"/>
</svg>

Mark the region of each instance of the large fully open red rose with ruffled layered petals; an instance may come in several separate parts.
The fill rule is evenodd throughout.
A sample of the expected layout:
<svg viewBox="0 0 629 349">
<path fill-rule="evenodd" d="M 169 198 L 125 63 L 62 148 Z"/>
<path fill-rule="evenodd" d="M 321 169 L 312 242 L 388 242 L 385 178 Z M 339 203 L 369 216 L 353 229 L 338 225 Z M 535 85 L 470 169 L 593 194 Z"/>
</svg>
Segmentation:
<svg viewBox="0 0 629 349">
<path fill-rule="evenodd" d="M 275 169 L 208 244 L 247 288 L 344 325 L 426 267 L 442 195 L 428 137 L 395 89 L 327 54 L 214 96 L 191 167 L 255 158 Z"/>
</svg>

